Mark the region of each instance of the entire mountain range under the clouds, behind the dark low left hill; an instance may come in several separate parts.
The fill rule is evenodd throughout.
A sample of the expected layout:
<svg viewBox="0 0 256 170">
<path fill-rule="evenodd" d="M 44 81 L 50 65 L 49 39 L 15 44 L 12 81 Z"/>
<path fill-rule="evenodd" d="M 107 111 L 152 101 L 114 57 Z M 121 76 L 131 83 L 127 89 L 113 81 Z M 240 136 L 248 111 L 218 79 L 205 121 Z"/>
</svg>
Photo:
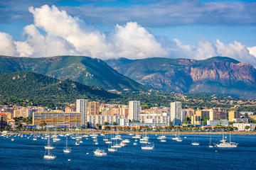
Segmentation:
<svg viewBox="0 0 256 170">
<path fill-rule="evenodd" d="M 229 57 L 211 57 L 207 60 L 119 58 L 102 61 L 84 56 L 0 56 L 0 74 L 20 71 L 43 74 L 55 78 L 56 82 L 76 81 L 87 86 L 120 91 L 159 89 L 175 93 L 224 94 L 239 98 L 256 96 L 256 69 Z M 2 84 L 7 82 L 2 81 Z M 95 87 L 91 88 L 97 89 Z"/>
</svg>

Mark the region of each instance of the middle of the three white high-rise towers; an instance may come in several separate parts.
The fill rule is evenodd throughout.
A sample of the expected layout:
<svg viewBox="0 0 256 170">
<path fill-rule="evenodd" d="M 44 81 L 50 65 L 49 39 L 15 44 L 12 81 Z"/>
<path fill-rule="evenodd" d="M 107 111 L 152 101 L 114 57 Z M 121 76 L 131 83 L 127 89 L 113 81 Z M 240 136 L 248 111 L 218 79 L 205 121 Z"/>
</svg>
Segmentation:
<svg viewBox="0 0 256 170">
<path fill-rule="evenodd" d="M 129 120 L 139 121 L 141 110 L 140 101 L 129 101 Z"/>
</svg>

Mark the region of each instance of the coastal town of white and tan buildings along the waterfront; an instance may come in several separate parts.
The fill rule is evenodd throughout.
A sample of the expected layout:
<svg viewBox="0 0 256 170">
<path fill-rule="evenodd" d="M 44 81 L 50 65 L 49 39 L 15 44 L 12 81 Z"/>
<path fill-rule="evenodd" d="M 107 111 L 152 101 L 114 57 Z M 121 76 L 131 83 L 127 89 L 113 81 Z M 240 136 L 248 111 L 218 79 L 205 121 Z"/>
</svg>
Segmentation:
<svg viewBox="0 0 256 170">
<path fill-rule="evenodd" d="M 1 130 L 41 130 L 42 128 L 119 130 L 146 129 L 157 131 L 221 130 L 255 131 L 256 115 L 252 111 L 233 108 L 182 108 L 180 101 L 169 107 L 141 106 L 140 101 L 129 105 L 107 104 L 77 99 L 69 106 L 54 110 L 43 106 L 0 106 Z"/>
</svg>

